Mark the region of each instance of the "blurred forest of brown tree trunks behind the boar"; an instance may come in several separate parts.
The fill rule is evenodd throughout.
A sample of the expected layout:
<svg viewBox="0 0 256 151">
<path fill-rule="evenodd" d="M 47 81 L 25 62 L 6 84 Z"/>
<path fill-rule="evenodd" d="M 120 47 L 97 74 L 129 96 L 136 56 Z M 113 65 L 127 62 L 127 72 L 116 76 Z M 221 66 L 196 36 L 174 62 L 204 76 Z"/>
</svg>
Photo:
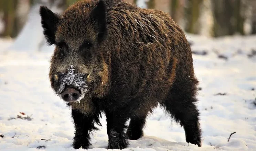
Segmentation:
<svg viewBox="0 0 256 151">
<path fill-rule="evenodd" d="M 29 16 L 47 5 L 61 13 L 77 0 L 0 0 L 0 37 L 15 38 Z M 168 12 L 185 32 L 210 37 L 256 33 L 256 0 L 126 0 Z M 33 9 L 34 8 L 34 9 Z M 37 9 L 36 9 L 37 8 Z"/>
</svg>

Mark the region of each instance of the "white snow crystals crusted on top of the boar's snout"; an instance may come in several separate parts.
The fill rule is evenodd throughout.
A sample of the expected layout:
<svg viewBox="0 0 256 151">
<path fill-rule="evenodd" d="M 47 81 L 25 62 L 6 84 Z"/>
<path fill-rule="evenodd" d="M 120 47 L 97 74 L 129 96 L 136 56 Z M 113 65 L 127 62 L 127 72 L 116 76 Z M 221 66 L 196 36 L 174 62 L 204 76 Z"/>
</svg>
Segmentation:
<svg viewBox="0 0 256 151">
<path fill-rule="evenodd" d="M 57 93 L 61 97 L 61 93 L 64 91 L 65 86 L 72 85 L 74 88 L 81 91 L 81 94 L 77 99 L 77 102 L 80 103 L 81 99 L 87 94 L 88 86 L 86 84 L 86 79 L 84 79 L 85 74 L 76 73 L 74 70 L 74 66 L 71 65 L 70 68 L 68 68 L 67 73 L 60 73 L 60 87 Z"/>
</svg>

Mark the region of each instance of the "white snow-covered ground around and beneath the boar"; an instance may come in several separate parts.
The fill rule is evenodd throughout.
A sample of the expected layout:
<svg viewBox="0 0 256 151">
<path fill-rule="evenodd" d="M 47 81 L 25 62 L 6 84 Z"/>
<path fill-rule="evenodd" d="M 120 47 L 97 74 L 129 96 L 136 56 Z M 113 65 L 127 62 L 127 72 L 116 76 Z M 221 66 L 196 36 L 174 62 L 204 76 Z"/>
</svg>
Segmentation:
<svg viewBox="0 0 256 151">
<path fill-rule="evenodd" d="M 188 146 L 183 128 L 156 108 L 148 117 L 145 136 L 130 141 L 124 151 L 255 150 L 256 55 L 248 55 L 256 50 L 256 35 L 210 39 L 188 34 L 187 38 L 195 53 L 205 54 L 193 55 L 201 87 L 198 107 L 202 148 Z M 48 71 L 53 47 L 47 51 L 5 51 L 11 44 L 0 39 L 0 150 L 74 150 L 71 111 L 50 89 Z M 24 119 L 26 116 L 32 119 Z M 107 148 L 104 116 L 101 123 L 103 127 L 92 138 L 92 151 Z M 232 132 L 236 133 L 228 142 Z"/>
</svg>

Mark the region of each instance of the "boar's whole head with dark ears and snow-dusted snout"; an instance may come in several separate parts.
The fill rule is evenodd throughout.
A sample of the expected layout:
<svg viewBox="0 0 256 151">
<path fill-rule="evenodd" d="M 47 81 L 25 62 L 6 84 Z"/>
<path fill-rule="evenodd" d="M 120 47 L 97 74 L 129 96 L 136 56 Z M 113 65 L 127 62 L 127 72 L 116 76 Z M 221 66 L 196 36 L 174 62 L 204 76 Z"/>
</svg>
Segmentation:
<svg viewBox="0 0 256 151">
<path fill-rule="evenodd" d="M 40 15 L 45 39 L 55 45 L 49 73 L 52 89 L 66 102 L 103 96 L 109 76 L 105 2 L 77 2 L 61 15 L 41 6 Z"/>
</svg>

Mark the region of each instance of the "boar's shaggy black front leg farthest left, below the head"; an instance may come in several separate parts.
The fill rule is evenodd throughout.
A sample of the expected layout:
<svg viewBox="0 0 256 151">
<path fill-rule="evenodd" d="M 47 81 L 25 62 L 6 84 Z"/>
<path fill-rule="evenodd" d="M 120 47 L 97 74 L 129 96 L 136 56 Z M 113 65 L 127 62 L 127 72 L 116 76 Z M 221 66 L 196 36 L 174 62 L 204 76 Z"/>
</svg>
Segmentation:
<svg viewBox="0 0 256 151">
<path fill-rule="evenodd" d="M 94 122 L 98 125 L 99 123 L 99 114 L 84 114 L 79 110 L 72 109 L 72 117 L 75 124 L 75 137 L 73 140 L 73 147 L 79 149 L 88 149 L 90 144 L 90 133 L 93 130 L 98 130 L 94 126 Z"/>
</svg>

